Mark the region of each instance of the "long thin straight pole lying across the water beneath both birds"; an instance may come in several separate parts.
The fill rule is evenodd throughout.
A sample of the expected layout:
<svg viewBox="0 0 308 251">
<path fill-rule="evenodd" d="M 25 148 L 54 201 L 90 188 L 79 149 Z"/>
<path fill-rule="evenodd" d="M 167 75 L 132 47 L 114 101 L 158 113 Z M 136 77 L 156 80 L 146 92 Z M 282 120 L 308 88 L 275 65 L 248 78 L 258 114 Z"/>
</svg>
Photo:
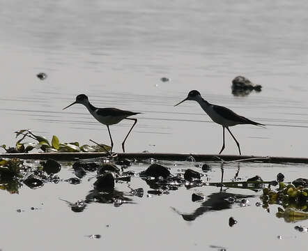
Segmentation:
<svg viewBox="0 0 308 251">
<path fill-rule="evenodd" d="M 88 158 L 108 157 L 107 153 L 0 153 L 0 158 L 20 158 L 35 160 L 80 160 Z M 118 158 L 128 158 L 137 160 L 146 160 L 155 158 L 157 160 L 177 160 L 185 161 L 188 157 L 193 156 L 199 161 L 257 161 L 271 163 L 308 163 L 308 158 L 296 157 L 272 157 L 272 156 L 254 156 L 254 155 L 215 155 L 215 154 L 192 154 L 192 153 L 118 153 Z"/>
</svg>

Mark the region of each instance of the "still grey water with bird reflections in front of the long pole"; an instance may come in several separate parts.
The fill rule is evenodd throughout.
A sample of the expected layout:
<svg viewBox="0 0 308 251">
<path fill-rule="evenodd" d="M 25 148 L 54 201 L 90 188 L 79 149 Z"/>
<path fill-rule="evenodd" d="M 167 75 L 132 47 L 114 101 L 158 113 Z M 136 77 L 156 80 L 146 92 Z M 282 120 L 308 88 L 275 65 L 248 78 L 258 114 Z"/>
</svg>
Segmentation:
<svg viewBox="0 0 308 251">
<path fill-rule="evenodd" d="M 183 174 L 185 169 L 201 172 L 202 162 L 160 162 L 170 167 L 171 174 Z M 222 169 L 219 162 L 207 162 L 212 167 L 203 173 L 203 181 L 220 182 Z M 38 162 L 29 161 L 26 165 L 37 166 Z M 259 196 L 262 191 L 240 188 L 201 186 L 165 190 L 165 194 L 151 195 L 146 181 L 138 175 L 130 182 L 116 183 L 114 195 L 127 201 L 120 206 L 115 203 L 86 204 L 84 211 L 75 213 L 70 205 L 85 200 L 93 191 L 96 181 L 95 172 L 88 172 L 82 183 L 72 185 L 65 180 L 74 177 L 72 163 L 62 163 L 58 174 L 59 183 L 45 183 L 43 188 L 31 190 L 22 185 L 19 194 L 1 192 L 3 215 L 2 226 L 6 229 L 0 236 L 2 250 L 19 250 L 26 246 L 28 250 L 54 250 L 70 247 L 73 250 L 91 248 L 146 249 L 157 250 L 174 248 L 175 250 L 219 250 L 211 246 L 224 247 L 226 250 L 305 250 L 307 233 L 300 233 L 294 227 L 306 225 L 308 221 L 284 222 L 277 218 L 277 205 L 270 205 L 268 211 L 256 203 L 262 203 Z M 150 164 L 135 162 L 125 169 L 136 174 Z M 264 181 L 275 180 L 276 174 L 283 172 L 286 181 L 298 178 L 298 173 L 306 172 L 306 165 L 266 164 L 266 163 L 225 163 L 224 181 L 235 176 L 246 181 L 255 174 L 261 174 Z M 202 173 L 202 172 L 201 172 Z M 144 196 L 130 194 L 132 189 L 143 188 Z M 202 192 L 204 201 L 192 201 L 194 192 Z M 249 203 L 242 207 L 240 203 L 231 204 L 228 197 L 247 198 Z M 280 206 L 281 207 L 281 206 Z M 4 217 L 5 215 L 5 217 Z M 238 221 L 229 227 L 229 218 Z M 89 238 L 99 234 L 100 239 Z M 277 236 L 282 236 L 278 239 Z M 18 241 L 17 241 L 18 240 Z"/>
</svg>

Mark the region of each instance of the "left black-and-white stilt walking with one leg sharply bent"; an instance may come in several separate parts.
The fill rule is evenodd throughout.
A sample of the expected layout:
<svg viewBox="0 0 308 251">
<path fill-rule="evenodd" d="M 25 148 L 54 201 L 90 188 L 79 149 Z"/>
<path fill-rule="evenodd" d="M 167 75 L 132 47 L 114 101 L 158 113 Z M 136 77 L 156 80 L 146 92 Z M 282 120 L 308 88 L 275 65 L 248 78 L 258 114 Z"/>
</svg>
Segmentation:
<svg viewBox="0 0 308 251">
<path fill-rule="evenodd" d="M 112 141 L 109 126 L 117 124 L 120 121 L 122 121 L 123 119 L 129 119 L 129 120 L 134 121 L 134 124 L 132 125 L 132 128 L 134 128 L 134 125 L 137 123 L 137 119 L 131 119 L 131 118 L 128 118 L 128 117 L 132 116 L 132 115 L 140 114 L 140 112 L 124 111 L 124 110 L 117 109 L 117 108 L 97 108 L 97 107 L 94 107 L 88 101 L 88 97 L 84 94 L 79 94 L 76 97 L 75 102 L 72 102 L 72 104 L 68 105 L 67 107 L 64 107 L 63 109 L 66 109 L 66 108 L 70 107 L 71 105 L 75 105 L 75 104 L 84 105 L 86 108 L 88 108 L 88 112 L 90 112 L 96 120 L 98 120 L 100 123 L 107 126 L 110 141 L 111 141 L 111 150 L 110 151 L 112 151 L 112 148 L 114 146 L 114 142 Z M 130 135 L 132 128 L 130 128 L 128 135 Z M 125 153 L 124 144 L 125 144 L 125 140 L 128 138 L 128 135 L 126 135 L 125 139 L 122 142 L 122 149 L 123 149 L 124 153 Z"/>
</svg>

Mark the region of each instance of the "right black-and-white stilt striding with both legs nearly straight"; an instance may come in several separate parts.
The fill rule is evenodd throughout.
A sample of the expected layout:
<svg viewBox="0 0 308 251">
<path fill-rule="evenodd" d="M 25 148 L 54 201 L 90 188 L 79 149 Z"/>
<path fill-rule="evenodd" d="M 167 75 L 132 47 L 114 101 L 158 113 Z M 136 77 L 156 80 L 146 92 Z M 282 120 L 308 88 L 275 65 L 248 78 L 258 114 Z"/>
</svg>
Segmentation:
<svg viewBox="0 0 308 251">
<path fill-rule="evenodd" d="M 196 90 L 190 91 L 190 93 L 188 93 L 187 98 L 185 98 L 185 100 L 179 102 L 176 105 L 180 105 L 180 103 L 186 100 L 197 101 L 199 105 L 201 106 L 201 108 L 204 110 L 204 112 L 206 112 L 208 116 L 210 116 L 210 119 L 212 119 L 215 123 L 222 125 L 223 144 L 222 144 L 222 149 L 220 150 L 220 153 L 222 153 L 222 151 L 224 150 L 224 128 L 228 130 L 228 132 L 231 134 L 233 139 L 236 141 L 236 144 L 238 145 L 238 151 L 240 153 L 240 144 L 236 140 L 236 137 L 234 137 L 233 134 L 231 133 L 229 126 L 236 126 L 239 124 L 252 124 L 255 126 L 265 126 L 261 123 L 251 121 L 250 119 L 247 119 L 244 116 L 240 116 L 236 114 L 235 112 L 231 111 L 231 109 L 222 107 L 220 105 L 210 104 L 208 101 L 204 100 L 201 97 L 201 94 L 199 93 L 199 91 L 196 91 Z"/>
</svg>

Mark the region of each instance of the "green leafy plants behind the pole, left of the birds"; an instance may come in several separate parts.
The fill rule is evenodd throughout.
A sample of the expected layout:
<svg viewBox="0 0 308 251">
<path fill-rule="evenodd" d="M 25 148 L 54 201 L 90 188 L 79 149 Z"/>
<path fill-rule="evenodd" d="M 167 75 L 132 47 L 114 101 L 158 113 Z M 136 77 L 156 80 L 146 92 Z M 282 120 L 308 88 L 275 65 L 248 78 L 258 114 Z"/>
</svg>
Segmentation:
<svg viewBox="0 0 308 251">
<path fill-rule="evenodd" d="M 40 149 L 45 153 L 78 153 L 78 152 L 103 152 L 110 151 L 111 146 L 105 144 L 96 144 L 95 146 L 89 146 L 84 144 L 79 145 L 79 142 L 63 143 L 59 141 L 59 138 L 54 135 L 52 142 L 43 136 L 35 135 L 29 129 L 22 129 L 15 132 L 16 138 L 21 137 L 16 142 L 15 147 L 7 148 L 5 144 L 1 147 L 6 150 L 6 153 L 29 153 L 33 149 Z M 34 139 L 36 142 L 23 142 L 25 138 Z"/>
</svg>

